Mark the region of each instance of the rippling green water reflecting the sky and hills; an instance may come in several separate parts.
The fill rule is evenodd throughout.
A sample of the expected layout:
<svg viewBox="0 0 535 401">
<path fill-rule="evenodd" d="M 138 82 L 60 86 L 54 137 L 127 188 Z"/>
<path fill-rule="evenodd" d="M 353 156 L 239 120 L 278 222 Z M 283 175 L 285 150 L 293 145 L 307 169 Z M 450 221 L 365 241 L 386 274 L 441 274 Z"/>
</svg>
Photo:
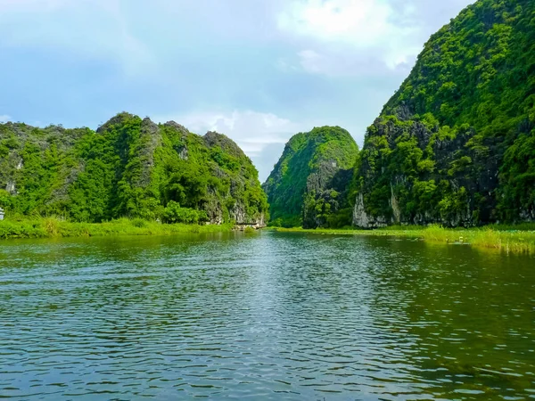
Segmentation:
<svg viewBox="0 0 535 401">
<path fill-rule="evenodd" d="M 0 242 L 0 398 L 535 399 L 535 259 L 225 233 Z"/>
</svg>

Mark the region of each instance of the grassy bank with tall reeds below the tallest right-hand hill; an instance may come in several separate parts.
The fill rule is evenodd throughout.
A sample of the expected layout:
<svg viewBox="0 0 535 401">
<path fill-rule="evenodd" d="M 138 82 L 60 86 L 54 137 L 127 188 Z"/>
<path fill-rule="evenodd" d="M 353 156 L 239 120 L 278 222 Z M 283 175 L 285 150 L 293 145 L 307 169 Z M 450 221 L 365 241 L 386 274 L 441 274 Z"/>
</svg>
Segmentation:
<svg viewBox="0 0 535 401">
<path fill-rule="evenodd" d="M 466 243 L 478 248 L 503 250 L 511 253 L 535 254 L 535 225 L 500 226 L 491 225 L 472 229 L 449 229 L 439 225 L 429 227 L 389 227 L 378 230 L 304 230 L 302 228 L 271 228 L 287 233 L 348 234 L 370 236 L 393 236 L 419 238 L 441 243 Z"/>
</svg>

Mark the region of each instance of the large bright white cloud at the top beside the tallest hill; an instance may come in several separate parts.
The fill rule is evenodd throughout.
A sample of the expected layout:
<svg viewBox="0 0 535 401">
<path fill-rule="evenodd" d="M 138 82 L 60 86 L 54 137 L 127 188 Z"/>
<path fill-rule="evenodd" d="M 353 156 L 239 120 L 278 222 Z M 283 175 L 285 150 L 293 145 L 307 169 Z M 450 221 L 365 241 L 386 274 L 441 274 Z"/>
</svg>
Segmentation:
<svg viewBox="0 0 535 401">
<path fill-rule="evenodd" d="M 297 62 L 309 74 L 406 75 L 425 40 L 448 22 L 445 16 L 454 17 L 470 3 L 473 0 L 432 6 L 427 0 L 292 0 L 279 13 L 277 26 L 302 46 Z"/>
</svg>

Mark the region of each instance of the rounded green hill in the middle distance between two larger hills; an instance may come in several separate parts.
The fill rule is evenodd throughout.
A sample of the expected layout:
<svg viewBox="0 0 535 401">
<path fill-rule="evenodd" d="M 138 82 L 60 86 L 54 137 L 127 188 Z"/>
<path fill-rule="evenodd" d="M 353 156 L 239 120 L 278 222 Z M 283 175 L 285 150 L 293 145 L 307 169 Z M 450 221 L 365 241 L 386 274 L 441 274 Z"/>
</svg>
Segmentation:
<svg viewBox="0 0 535 401">
<path fill-rule="evenodd" d="M 350 225 L 347 192 L 357 155 L 357 143 L 341 127 L 317 127 L 292 136 L 263 184 L 272 224 Z"/>
</svg>

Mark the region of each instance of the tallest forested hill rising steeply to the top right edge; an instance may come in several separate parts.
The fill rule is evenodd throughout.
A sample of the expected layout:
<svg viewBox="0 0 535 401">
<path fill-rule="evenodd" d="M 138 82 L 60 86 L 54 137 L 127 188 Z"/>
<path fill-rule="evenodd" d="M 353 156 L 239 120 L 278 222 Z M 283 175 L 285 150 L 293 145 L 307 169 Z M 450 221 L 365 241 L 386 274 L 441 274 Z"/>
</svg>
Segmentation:
<svg viewBox="0 0 535 401">
<path fill-rule="evenodd" d="M 367 129 L 354 224 L 535 219 L 535 1 L 479 0 Z"/>
</svg>

